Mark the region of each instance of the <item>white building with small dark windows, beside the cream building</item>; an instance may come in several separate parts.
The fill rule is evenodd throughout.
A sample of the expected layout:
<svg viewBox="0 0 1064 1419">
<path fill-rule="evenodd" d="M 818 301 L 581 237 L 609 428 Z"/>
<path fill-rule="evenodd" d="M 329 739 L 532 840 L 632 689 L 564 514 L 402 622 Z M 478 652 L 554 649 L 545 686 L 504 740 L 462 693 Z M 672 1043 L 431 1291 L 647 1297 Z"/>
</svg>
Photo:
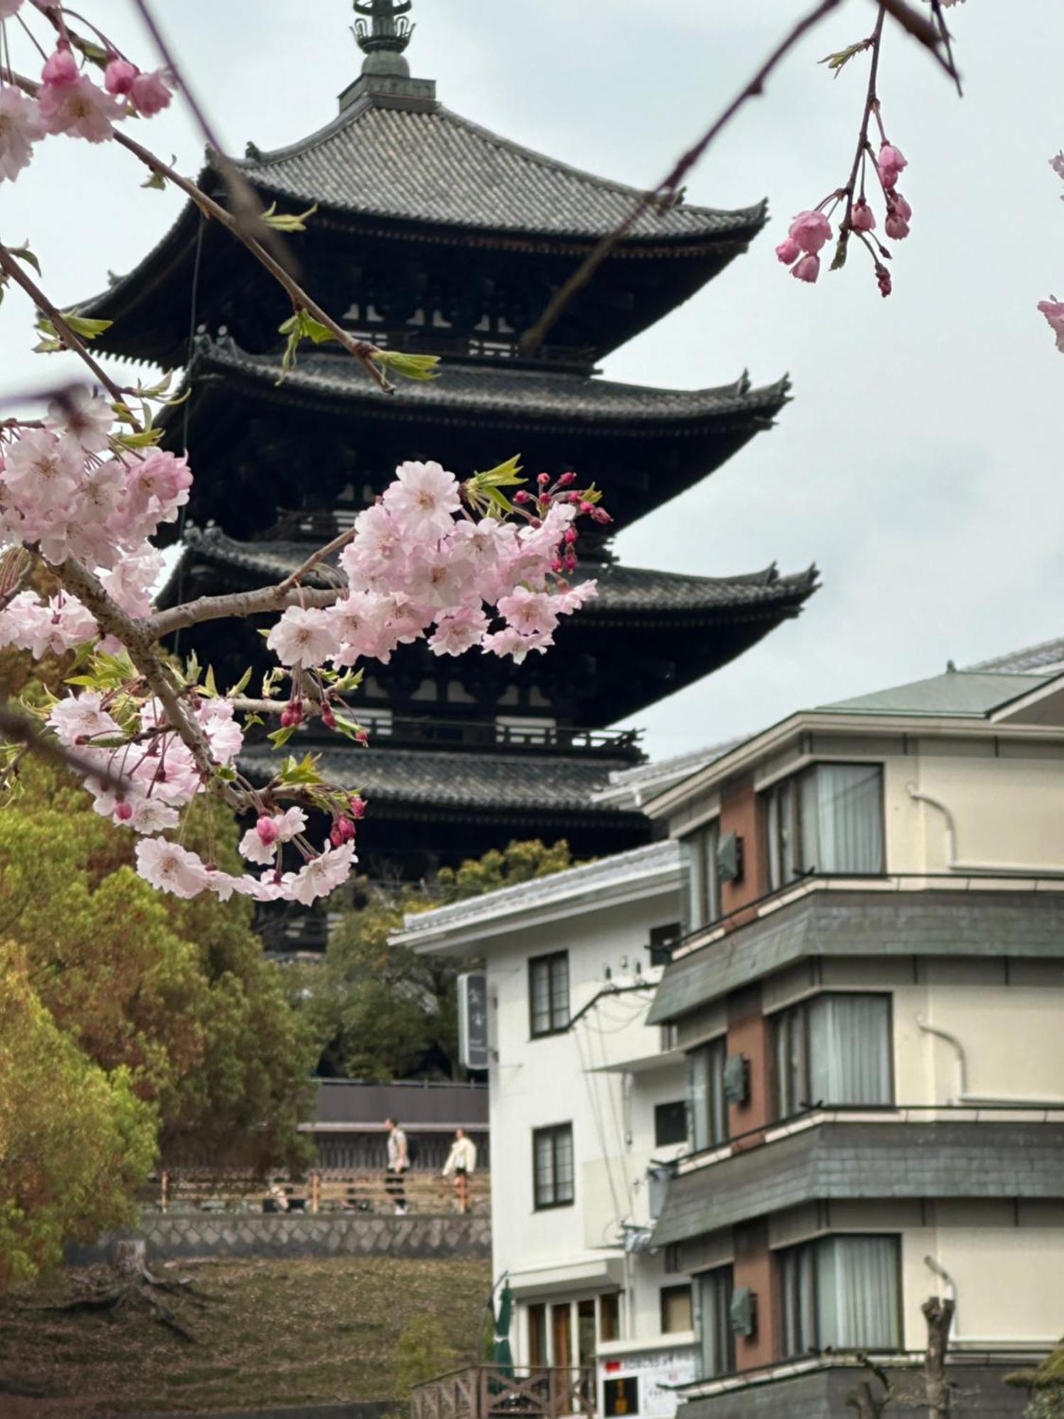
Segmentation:
<svg viewBox="0 0 1064 1419">
<path fill-rule="evenodd" d="M 420 951 L 485 962 L 492 1257 L 518 1366 L 695 1375 L 691 1286 L 647 1246 L 651 1192 L 687 1152 L 687 1064 L 645 1023 L 675 939 L 680 850 L 663 841 L 407 917 Z"/>
</svg>

